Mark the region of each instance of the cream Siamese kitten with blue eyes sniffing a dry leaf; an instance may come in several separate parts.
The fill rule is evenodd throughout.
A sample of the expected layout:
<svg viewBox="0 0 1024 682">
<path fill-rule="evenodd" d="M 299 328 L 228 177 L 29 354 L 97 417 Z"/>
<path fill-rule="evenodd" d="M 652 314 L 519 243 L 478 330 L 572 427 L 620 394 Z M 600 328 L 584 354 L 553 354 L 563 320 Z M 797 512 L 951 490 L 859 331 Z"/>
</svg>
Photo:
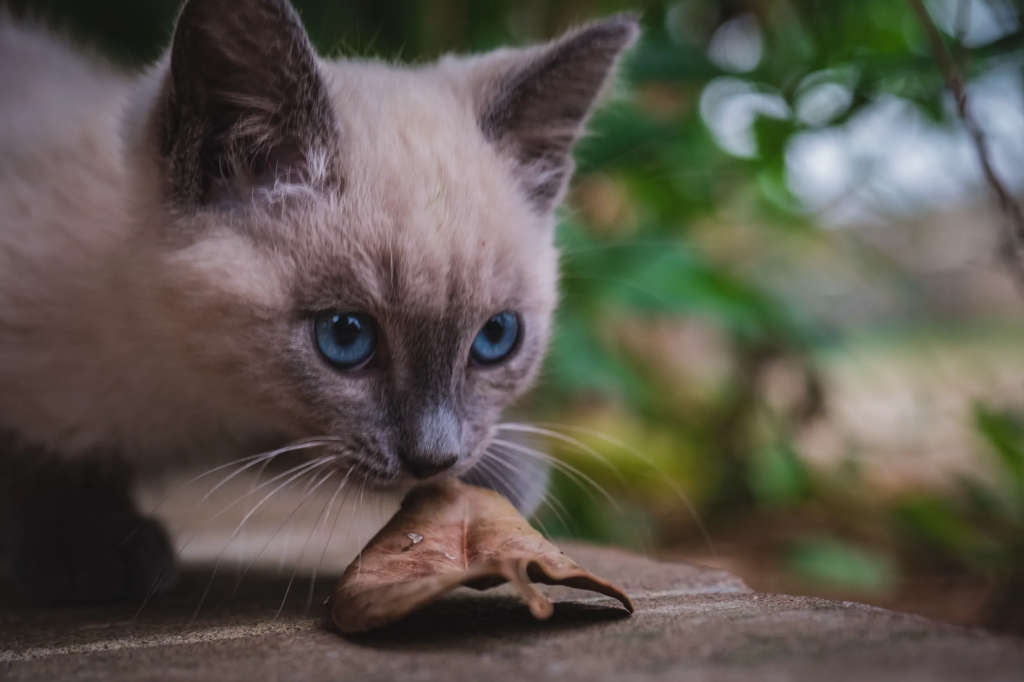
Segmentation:
<svg viewBox="0 0 1024 682">
<path fill-rule="evenodd" d="M 637 33 L 407 68 L 322 59 L 287 0 L 189 0 L 134 77 L 0 18 L 0 556 L 22 594 L 150 589 L 171 550 L 131 502 L 139 466 L 326 436 L 282 457 L 381 488 L 478 479 L 548 342 L 571 147 Z"/>
</svg>

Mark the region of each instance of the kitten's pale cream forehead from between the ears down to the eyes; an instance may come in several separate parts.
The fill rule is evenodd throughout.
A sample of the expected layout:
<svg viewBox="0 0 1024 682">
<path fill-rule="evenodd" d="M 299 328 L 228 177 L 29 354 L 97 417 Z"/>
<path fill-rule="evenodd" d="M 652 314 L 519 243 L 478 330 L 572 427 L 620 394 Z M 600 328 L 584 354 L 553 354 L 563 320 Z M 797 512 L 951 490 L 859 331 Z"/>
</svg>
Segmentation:
<svg viewBox="0 0 1024 682">
<path fill-rule="evenodd" d="M 345 148 L 340 196 L 294 222 L 302 305 L 550 307 L 557 254 L 442 67 L 327 67 Z M 334 303 L 331 303 L 334 301 Z"/>
</svg>

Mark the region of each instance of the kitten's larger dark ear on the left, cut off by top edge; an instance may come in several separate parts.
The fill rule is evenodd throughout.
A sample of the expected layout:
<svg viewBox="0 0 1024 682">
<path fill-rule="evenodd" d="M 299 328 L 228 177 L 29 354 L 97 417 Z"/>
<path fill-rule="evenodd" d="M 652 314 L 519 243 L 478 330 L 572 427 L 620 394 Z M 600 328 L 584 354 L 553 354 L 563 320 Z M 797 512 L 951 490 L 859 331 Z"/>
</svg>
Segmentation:
<svg viewBox="0 0 1024 682">
<path fill-rule="evenodd" d="M 252 204 L 341 184 L 316 53 L 288 0 L 189 0 L 159 114 L 173 198 Z"/>
</svg>

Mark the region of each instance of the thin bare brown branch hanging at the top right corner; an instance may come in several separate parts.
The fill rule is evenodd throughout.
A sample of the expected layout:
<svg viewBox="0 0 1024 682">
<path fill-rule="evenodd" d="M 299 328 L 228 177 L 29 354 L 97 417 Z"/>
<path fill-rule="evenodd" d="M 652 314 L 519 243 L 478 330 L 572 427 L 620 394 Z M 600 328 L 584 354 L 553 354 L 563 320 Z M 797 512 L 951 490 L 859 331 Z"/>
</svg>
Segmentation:
<svg viewBox="0 0 1024 682">
<path fill-rule="evenodd" d="M 956 100 L 956 114 L 964 128 L 971 136 L 971 140 L 974 142 L 978 162 L 981 164 L 982 175 L 984 175 L 985 182 L 988 183 L 989 188 L 998 201 L 999 210 L 1004 216 L 1004 229 L 998 255 L 1013 275 L 1018 289 L 1024 293 L 1024 210 L 1021 209 L 1021 205 L 1014 198 L 1013 194 L 1007 189 L 1006 184 L 992 167 L 988 138 L 985 136 L 985 131 L 978 124 L 978 120 L 974 117 L 971 102 L 968 99 L 964 77 L 961 75 L 949 48 L 946 47 L 945 41 L 942 40 L 942 35 L 939 33 L 938 27 L 932 20 L 923 0 L 907 0 L 907 2 L 910 3 L 910 7 L 925 29 L 932 52 L 939 62 L 943 77 L 945 77 L 946 85 Z"/>
</svg>

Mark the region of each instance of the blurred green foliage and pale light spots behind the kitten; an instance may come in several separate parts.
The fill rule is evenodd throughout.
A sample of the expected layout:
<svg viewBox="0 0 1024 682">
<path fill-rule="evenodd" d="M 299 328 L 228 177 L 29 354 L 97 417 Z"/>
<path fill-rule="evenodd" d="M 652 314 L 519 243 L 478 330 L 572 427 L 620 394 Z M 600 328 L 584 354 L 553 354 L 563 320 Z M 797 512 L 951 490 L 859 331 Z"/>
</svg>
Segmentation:
<svg viewBox="0 0 1024 682">
<path fill-rule="evenodd" d="M 137 67 L 178 0 L 9 0 Z M 1024 611 L 1024 288 L 904 0 L 296 0 L 329 55 L 423 61 L 643 13 L 578 152 L 544 378 L 557 537 L 957 623 Z M 1021 0 L 933 0 L 1024 188 Z M 1017 615 L 1015 616 L 1014 613 Z"/>
</svg>

